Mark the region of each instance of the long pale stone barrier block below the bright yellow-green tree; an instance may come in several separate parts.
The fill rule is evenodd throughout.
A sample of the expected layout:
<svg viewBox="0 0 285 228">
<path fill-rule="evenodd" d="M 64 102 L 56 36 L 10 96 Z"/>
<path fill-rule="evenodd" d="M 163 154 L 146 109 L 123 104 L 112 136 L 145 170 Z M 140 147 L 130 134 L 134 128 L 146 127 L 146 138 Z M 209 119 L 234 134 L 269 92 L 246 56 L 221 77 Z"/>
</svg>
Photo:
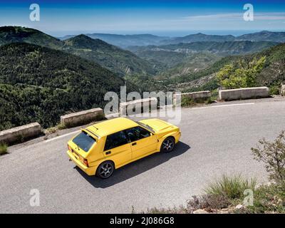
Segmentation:
<svg viewBox="0 0 285 228">
<path fill-rule="evenodd" d="M 268 98 L 269 88 L 237 88 L 232 90 L 219 90 L 219 100 L 243 100 L 249 98 Z"/>
</svg>

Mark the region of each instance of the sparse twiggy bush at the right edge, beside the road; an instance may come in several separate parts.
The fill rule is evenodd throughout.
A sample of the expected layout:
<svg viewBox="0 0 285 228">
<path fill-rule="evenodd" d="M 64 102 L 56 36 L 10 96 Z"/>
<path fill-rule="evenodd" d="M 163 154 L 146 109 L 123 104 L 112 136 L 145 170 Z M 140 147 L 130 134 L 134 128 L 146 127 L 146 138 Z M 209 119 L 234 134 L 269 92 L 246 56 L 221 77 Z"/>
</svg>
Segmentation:
<svg viewBox="0 0 285 228">
<path fill-rule="evenodd" d="M 252 148 L 254 159 L 265 162 L 269 178 L 285 187 L 285 131 L 274 142 L 259 140 L 259 146 Z"/>
</svg>

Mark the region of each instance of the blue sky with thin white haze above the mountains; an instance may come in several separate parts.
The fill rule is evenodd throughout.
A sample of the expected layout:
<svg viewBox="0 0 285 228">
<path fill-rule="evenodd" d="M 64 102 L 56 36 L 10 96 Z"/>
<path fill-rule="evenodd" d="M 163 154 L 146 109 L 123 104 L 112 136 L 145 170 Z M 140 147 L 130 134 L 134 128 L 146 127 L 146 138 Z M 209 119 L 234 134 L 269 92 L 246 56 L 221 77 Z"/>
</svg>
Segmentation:
<svg viewBox="0 0 285 228">
<path fill-rule="evenodd" d="M 29 20 L 29 6 L 41 7 L 41 21 Z M 254 6 L 254 21 L 244 21 L 244 4 Z M 285 1 L 191 0 L 10 0 L 0 2 L 0 25 L 37 28 L 53 36 L 78 33 L 247 33 L 285 31 Z"/>
</svg>

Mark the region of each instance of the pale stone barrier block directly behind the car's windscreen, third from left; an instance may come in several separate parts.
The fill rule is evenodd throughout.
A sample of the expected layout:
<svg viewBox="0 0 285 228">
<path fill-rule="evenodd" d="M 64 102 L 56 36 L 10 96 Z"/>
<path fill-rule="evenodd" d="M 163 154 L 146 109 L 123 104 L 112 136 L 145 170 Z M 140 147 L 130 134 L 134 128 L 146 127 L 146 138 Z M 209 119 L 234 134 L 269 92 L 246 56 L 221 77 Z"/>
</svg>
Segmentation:
<svg viewBox="0 0 285 228">
<path fill-rule="evenodd" d="M 120 115 L 134 115 L 145 110 L 157 109 L 157 98 L 144 98 L 120 103 Z"/>
</svg>

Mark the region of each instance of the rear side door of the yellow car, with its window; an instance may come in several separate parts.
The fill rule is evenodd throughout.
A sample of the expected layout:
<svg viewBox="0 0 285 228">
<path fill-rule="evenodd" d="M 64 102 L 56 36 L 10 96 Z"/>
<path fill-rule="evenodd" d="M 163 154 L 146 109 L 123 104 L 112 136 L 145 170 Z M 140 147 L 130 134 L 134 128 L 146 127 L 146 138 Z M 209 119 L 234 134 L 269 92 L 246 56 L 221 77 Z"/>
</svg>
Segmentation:
<svg viewBox="0 0 285 228">
<path fill-rule="evenodd" d="M 132 160 L 130 142 L 128 142 L 128 138 L 123 130 L 107 136 L 103 153 L 107 159 L 115 162 L 115 167 L 124 165 Z"/>
</svg>

